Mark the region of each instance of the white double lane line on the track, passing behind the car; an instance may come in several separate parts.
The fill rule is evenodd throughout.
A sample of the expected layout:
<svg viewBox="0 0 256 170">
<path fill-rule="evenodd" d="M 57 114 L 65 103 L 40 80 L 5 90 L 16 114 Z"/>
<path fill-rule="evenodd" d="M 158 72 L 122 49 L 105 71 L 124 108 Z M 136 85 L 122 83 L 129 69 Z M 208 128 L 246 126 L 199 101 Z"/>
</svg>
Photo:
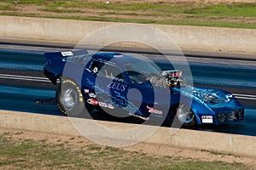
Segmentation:
<svg viewBox="0 0 256 170">
<path fill-rule="evenodd" d="M 18 76 L 18 75 L 9 75 L 9 74 L 0 74 L 0 78 L 5 79 L 15 79 L 15 80 L 26 80 L 33 82 L 50 82 L 46 77 L 26 77 L 26 76 Z M 237 99 L 250 99 L 256 100 L 256 95 L 251 94 L 233 94 Z"/>
</svg>

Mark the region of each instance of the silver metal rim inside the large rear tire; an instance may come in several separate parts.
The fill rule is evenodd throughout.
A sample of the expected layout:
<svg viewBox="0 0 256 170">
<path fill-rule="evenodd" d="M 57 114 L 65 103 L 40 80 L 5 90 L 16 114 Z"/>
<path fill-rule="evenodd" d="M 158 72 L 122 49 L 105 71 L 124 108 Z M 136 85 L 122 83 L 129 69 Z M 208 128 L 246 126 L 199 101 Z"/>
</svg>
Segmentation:
<svg viewBox="0 0 256 170">
<path fill-rule="evenodd" d="M 64 105 L 73 108 L 78 100 L 78 94 L 73 89 L 67 89 L 63 93 Z"/>
</svg>

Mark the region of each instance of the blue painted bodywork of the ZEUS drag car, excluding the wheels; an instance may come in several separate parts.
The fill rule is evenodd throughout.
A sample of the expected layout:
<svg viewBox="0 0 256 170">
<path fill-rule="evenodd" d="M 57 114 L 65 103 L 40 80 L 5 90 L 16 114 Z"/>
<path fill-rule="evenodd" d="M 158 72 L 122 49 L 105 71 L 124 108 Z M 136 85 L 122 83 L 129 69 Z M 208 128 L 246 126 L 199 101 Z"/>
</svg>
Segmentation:
<svg viewBox="0 0 256 170">
<path fill-rule="evenodd" d="M 222 124 L 243 119 L 243 107 L 230 93 L 220 89 L 192 88 L 183 83 L 183 77 L 171 76 L 177 71 L 163 72 L 143 59 L 118 53 L 70 52 L 68 59 L 62 55 L 61 52 L 46 54 L 48 62 L 44 65 L 44 74 L 51 82 L 55 83 L 59 76 L 69 77 L 80 84 L 82 92 L 89 90 L 100 96 L 97 98 L 99 102 L 123 108 L 131 114 L 149 117 L 152 110 L 148 108 L 154 108 L 166 119 L 173 116 L 172 112 L 177 110 L 175 105 L 180 104 L 188 105 L 194 111 L 198 124 Z M 127 99 L 131 88 L 143 95 L 143 101 L 132 96 L 131 100 Z M 90 98 L 83 95 L 85 101 Z M 155 98 L 157 96 L 160 97 Z M 211 117 L 211 122 L 204 120 L 205 117 Z"/>
</svg>

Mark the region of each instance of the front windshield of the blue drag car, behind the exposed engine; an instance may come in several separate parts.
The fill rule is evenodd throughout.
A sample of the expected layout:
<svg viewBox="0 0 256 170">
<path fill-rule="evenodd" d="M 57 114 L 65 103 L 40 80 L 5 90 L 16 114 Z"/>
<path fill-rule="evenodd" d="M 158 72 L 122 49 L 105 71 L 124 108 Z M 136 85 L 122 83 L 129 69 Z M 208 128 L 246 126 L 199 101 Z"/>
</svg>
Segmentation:
<svg viewBox="0 0 256 170">
<path fill-rule="evenodd" d="M 146 82 L 147 78 L 151 77 L 152 74 L 160 73 L 160 69 L 145 61 L 139 61 L 125 65 L 125 70 L 127 71 L 128 76 L 133 83 Z"/>
</svg>

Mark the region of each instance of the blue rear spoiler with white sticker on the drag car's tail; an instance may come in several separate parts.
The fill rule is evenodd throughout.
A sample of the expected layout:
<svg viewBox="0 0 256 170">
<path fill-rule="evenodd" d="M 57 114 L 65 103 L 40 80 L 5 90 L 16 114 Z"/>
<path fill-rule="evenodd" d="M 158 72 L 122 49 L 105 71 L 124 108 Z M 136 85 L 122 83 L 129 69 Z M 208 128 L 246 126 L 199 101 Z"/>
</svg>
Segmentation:
<svg viewBox="0 0 256 170">
<path fill-rule="evenodd" d="M 62 52 L 51 52 L 51 53 L 44 53 L 44 57 L 47 59 L 49 64 L 53 59 L 63 59 L 71 56 L 88 54 L 86 49 L 76 50 L 76 51 L 62 51 Z"/>
</svg>

